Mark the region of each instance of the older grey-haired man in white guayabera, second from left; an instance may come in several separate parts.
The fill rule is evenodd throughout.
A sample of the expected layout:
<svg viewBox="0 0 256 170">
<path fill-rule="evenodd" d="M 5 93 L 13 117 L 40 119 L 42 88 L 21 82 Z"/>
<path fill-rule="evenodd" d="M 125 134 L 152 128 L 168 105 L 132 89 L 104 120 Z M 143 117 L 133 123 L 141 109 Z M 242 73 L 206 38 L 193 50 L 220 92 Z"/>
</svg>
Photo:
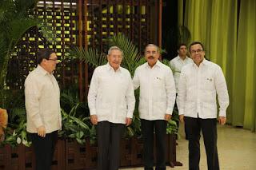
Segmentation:
<svg viewBox="0 0 256 170">
<path fill-rule="evenodd" d="M 88 105 L 97 130 L 98 170 L 118 169 L 122 132 L 134 113 L 134 87 L 129 71 L 120 66 L 122 57 L 122 50 L 112 46 L 108 63 L 97 67 L 90 81 Z"/>
</svg>

